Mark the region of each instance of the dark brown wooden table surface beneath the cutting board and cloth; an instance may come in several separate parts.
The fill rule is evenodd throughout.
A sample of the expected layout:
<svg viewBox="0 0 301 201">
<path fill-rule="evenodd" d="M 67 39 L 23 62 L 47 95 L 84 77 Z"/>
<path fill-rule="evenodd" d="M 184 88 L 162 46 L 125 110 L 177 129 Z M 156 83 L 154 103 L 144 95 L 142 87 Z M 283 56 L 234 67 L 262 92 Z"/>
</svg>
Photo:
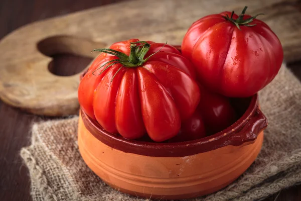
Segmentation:
<svg viewBox="0 0 301 201">
<path fill-rule="evenodd" d="M 34 21 L 120 1 L 123 0 L 1 0 L 0 39 L 13 30 Z M 59 75 L 70 75 L 79 72 L 89 62 L 89 58 L 56 55 L 52 71 Z M 300 78 L 301 62 L 290 66 Z M 31 124 L 47 119 L 50 118 L 24 113 L 0 100 L 0 201 L 32 200 L 29 172 L 19 152 L 22 147 L 30 144 Z M 283 190 L 265 200 L 301 200 L 301 185 Z"/>
</svg>

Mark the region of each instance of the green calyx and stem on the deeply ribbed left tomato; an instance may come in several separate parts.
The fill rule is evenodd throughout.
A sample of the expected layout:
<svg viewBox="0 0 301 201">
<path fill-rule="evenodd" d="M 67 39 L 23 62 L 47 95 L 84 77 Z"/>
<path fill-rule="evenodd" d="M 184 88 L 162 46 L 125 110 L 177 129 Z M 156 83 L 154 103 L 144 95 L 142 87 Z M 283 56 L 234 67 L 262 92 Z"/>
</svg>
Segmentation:
<svg viewBox="0 0 301 201">
<path fill-rule="evenodd" d="M 109 67 L 111 67 L 114 64 L 120 63 L 122 66 L 116 71 L 116 73 L 113 75 L 111 81 L 114 79 L 115 75 L 119 72 L 119 70 L 122 67 L 126 67 L 126 68 L 135 68 L 138 66 L 141 66 L 143 63 L 145 63 L 150 57 L 152 57 L 153 55 L 155 55 L 156 53 L 160 52 L 162 50 L 162 48 L 167 44 L 167 42 L 160 48 L 160 50 L 158 50 L 157 52 L 149 55 L 146 59 L 144 59 L 145 55 L 147 54 L 149 48 L 150 48 L 150 44 L 145 42 L 145 41 L 138 41 L 138 42 L 131 42 L 130 43 L 130 54 L 129 56 L 124 54 L 123 52 L 119 52 L 113 49 L 109 49 L 109 48 L 102 48 L 102 49 L 94 49 L 91 52 L 103 52 L 106 54 L 111 54 L 114 55 L 116 57 L 118 57 L 118 59 L 113 59 L 110 60 L 108 62 L 106 62 L 105 64 L 103 64 L 102 66 L 100 66 L 99 68 L 97 68 L 96 70 L 94 70 L 92 72 L 93 75 L 95 71 L 97 71 L 98 69 L 104 67 L 105 65 L 107 65 L 100 73 L 103 73 L 106 69 L 108 69 Z"/>
</svg>

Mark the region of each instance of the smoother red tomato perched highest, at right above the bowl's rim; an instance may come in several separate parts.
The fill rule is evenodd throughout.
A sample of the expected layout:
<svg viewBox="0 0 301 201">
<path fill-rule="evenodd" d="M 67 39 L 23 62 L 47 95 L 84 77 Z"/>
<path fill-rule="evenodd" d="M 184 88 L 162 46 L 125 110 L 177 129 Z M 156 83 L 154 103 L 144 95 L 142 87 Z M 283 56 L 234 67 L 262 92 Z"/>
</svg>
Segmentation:
<svg viewBox="0 0 301 201">
<path fill-rule="evenodd" d="M 194 22 L 182 42 L 182 53 L 196 66 L 207 88 L 231 97 L 247 97 L 266 86 L 283 60 L 281 43 L 262 21 L 234 12 Z"/>
</svg>

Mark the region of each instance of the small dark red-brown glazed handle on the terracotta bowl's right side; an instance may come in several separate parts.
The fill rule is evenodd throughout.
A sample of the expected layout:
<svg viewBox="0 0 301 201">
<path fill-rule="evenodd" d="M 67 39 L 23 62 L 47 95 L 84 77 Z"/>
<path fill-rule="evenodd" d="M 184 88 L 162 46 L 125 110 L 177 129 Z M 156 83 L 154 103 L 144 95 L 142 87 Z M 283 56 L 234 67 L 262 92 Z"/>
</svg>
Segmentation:
<svg viewBox="0 0 301 201">
<path fill-rule="evenodd" d="M 267 127 L 268 121 L 257 107 L 254 115 L 243 126 L 243 128 L 229 137 L 229 144 L 234 146 L 242 145 L 246 142 L 254 142 L 258 134 Z"/>
</svg>

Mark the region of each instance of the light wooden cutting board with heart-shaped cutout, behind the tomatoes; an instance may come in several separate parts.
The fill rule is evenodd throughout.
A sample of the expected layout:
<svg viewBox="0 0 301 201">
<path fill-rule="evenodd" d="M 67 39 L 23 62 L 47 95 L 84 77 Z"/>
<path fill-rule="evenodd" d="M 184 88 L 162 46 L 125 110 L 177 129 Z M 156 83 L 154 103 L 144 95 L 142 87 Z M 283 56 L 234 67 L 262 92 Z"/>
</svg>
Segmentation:
<svg viewBox="0 0 301 201">
<path fill-rule="evenodd" d="M 138 38 L 181 44 L 197 19 L 232 11 L 264 13 L 279 37 L 285 61 L 301 59 L 301 13 L 297 0 L 153 0 L 129 1 L 29 24 L 0 42 L 0 98 L 25 111 L 62 116 L 79 108 L 79 74 L 57 76 L 49 72 L 51 55 L 72 53 L 95 57 L 92 49 Z"/>
</svg>

